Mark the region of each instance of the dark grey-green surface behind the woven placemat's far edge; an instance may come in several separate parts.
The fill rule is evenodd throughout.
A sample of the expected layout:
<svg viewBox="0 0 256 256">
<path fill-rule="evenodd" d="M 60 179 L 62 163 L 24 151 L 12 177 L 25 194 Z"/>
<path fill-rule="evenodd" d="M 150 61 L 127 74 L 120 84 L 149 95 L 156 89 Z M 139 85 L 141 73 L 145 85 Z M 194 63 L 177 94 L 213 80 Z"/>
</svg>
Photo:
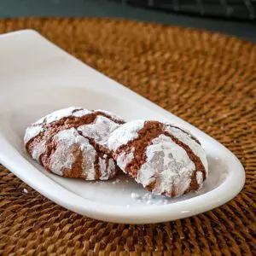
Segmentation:
<svg viewBox="0 0 256 256">
<path fill-rule="evenodd" d="M 26 16 L 125 18 L 154 21 L 172 26 L 206 28 L 214 32 L 224 32 L 256 42 L 255 20 L 202 18 L 196 15 L 139 8 L 124 2 L 108 0 L 0 0 L 0 18 Z"/>
</svg>

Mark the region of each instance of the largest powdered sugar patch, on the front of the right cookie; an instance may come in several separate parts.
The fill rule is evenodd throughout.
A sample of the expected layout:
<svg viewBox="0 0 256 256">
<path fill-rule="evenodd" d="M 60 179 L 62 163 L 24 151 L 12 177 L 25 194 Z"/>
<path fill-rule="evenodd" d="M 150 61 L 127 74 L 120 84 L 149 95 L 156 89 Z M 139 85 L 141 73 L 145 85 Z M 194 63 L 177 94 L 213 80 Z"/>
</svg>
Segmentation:
<svg viewBox="0 0 256 256">
<path fill-rule="evenodd" d="M 156 195 L 183 195 L 189 188 L 191 174 L 195 164 L 189 159 L 187 152 L 170 137 L 160 135 L 148 146 L 147 160 L 137 172 L 137 182 L 143 187 L 154 182 L 152 192 Z"/>
</svg>

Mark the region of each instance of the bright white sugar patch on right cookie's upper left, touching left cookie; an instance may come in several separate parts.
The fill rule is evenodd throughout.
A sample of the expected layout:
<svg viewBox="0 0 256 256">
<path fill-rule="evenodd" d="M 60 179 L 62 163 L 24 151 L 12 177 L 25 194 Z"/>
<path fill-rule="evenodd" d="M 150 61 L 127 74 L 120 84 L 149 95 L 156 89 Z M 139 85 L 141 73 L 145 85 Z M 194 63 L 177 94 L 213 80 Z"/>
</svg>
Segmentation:
<svg viewBox="0 0 256 256">
<path fill-rule="evenodd" d="M 137 132 L 143 128 L 144 123 L 145 120 L 134 120 L 113 131 L 108 138 L 108 148 L 115 151 L 120 146 L 137 138 Z"/>
</svg>

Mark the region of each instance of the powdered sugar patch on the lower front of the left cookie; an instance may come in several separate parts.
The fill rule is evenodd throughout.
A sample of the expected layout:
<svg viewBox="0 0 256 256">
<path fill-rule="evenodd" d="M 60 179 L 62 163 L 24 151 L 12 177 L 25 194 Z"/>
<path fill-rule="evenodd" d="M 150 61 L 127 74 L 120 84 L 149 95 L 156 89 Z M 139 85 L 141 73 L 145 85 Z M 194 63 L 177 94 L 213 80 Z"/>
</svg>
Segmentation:
<svg viewBox="0 0 256 256">
<path fill-rule="evenodd" d="M 73 164 L 81 155 L 81 172 L 87 180 L 94 180 L 96 150 L 88 139 L 80 136 L 74 128 L 60 131 L 53 138 L 56 142 L 56 150 L 50 157 L 50 170 L 62 176 L 64 171 L 73 168 Z"/>
</svg>

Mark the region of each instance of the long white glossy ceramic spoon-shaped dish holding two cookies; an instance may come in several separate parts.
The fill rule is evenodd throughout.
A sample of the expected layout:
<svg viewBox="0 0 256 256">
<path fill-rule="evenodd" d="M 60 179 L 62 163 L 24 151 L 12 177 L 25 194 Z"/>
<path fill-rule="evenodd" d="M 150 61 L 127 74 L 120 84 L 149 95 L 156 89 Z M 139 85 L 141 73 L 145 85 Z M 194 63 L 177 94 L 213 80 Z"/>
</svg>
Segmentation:
<svg viewBox="0 0 256 256">
<path fill-rule="evenodd" d="M 145 224 L 185 218 L 218 207 L 236 196 L 244 182 L 241 163 L 212 137 L 172 113 L 108 79 L 49 43 L 38 32 L 0 36 L 0 161 L 33 189 L 73 212 L 115 223 Z M 23 149 L 27 125 L 68 106 L 108 109 L 125 119 L 166 119 L 183 125 L 207 150 L 210 175 L 199 193 L 153 204 L 135 201 L 146 191 L 129 177 L 84 182 L 45 172 Z M 139 109 L 139 111 L 137 111 Z"/>
</svg>

